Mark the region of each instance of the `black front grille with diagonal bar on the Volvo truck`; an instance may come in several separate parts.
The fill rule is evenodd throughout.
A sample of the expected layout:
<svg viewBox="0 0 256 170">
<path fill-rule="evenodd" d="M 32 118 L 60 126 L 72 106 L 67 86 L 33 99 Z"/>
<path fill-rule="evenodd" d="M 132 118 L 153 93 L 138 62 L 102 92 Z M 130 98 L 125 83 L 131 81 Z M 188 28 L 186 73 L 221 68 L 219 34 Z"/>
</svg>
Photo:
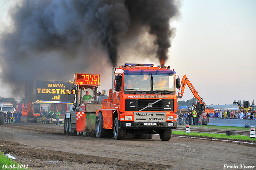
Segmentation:
<svg viewBox="0 0 256 170">
<path fill-rule="evenodd" d="M 128 111 L 152 111 L 152 112 L 173 112 L 174 100 L 173 99 L 126 99 L 125 110 Z M 156 102 L 155 104 L 152 104 Z M 147 107 L 148 106 L 148 107 Z M 147 107 L 147 108 L 145 108 Z M 145 108 L 145 109 L 143 109 Z M 143 110 L 142 110 L 143 109 Z"/>
</svg>

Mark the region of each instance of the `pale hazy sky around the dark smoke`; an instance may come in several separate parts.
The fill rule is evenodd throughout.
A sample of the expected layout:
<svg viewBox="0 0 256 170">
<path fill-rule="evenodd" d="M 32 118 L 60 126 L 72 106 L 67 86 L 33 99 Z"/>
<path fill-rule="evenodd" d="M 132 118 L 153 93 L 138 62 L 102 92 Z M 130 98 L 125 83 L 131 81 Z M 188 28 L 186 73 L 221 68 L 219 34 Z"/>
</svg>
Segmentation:
<svg viewBox="0 0 256 170">
<path fill-rule="evenodd" d="M 0 32 L 1 25 L 10 22 L 7 12 L 16 1 L 1 2 Z M 186 74 L 208 105 L 256 101 L 256 1 L 182 0 L 180 4 L 180 16 L 170 22 L 176 36 L 165 65 L 175 69 L 180 79 Z M 123 48 L 121 52 L 125 54 Z M 127 57 L 118 60 L 118 65 L 135 61 L 160 64 L 158 60 Z M 106 72 L 111 72 L 111 66 Z M 106 72 L 101 75 L 100 90 L 111 88 L 110 79 L 103 78 Z M 0 96 L 19 100 L 18 96 L 24 95 L 14 96 L 8 89 L 1 82 Z M 186 87 L 179 100 L 192 97 Z"/>
</svg>

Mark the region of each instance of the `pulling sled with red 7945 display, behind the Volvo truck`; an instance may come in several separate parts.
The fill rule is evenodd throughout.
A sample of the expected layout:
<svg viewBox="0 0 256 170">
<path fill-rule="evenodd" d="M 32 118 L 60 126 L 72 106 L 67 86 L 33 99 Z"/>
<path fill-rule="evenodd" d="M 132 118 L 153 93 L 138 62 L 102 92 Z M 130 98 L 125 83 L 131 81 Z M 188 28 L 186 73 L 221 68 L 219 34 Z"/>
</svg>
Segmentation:
<svg viewBox="0 0 256 170">
<path fill-rule="evenodd" d="M 86 130 L 94 130 L 96 110 L 102 107 L 98 102 L 98 86 L 100 86 L 100 74 L 80 74 L 74 75 L 75 88 L 66 89 L 66 95 L 74 95 L 74 104 L 67 111 L 64 119 L 64 132 L 85 134 Z M 83 94 L 90 91 L 92 99 L 83 100 Z M 105 92 L 104 92 L 105 93 Z M 102 94 L 103 96 L 104 94 Z"/>
</svg>

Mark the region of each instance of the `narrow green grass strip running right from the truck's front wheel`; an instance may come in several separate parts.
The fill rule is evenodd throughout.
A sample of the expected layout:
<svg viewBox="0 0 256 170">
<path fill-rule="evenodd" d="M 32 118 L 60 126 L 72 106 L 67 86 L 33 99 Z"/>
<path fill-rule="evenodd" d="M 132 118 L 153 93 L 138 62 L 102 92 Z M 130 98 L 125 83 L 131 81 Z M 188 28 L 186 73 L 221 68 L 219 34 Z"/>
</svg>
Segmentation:
<svg viewBox="0 0 256 170">
<path fill-rule="evenodd" d="M 178 135 L 187 135 L 187 136 L 208 136 L 212 138 L 225 138 L 225 139 L 238 139 L 238 140 L 252 140 L 256 141 L 256 138 L 250 138 L 250 136 L 242 136 L 242 135 L 230 135 L 227 136 L 226 134 L 211 134 L 211 133 L 197 133 L 197 132 L 182 132 L 182 131 L 172 131 L 172 134 Z"/>
</svg>

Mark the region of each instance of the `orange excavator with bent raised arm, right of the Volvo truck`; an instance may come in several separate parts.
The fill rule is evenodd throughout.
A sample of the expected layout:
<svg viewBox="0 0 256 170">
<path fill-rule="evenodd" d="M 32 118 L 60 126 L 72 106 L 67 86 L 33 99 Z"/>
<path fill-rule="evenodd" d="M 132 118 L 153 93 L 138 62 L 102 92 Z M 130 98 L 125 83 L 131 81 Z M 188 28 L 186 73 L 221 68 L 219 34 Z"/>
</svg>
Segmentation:
<svg viewBox="0 0 256 170">
<path fill-rule="evenodd" d="M 186 84 L 188 85 L 189 89 L 191 90 L 191 92 L 193 93 L 194 97 L 199 100 L 194 106 L 192 106 L 192 110 L 193 108 L 196 110 L 196 112 L 198 113 L 197 115 L 199 116 L 199 114 L 202 112 L 202 110 L 204 110 L 206 113 L 207 112 L 214 112 L 214 109 L 212 107 L 207 107 L 205 106 L 205 103 L 203 102 L 203 98 L 201 98 L 198 94 L 198 92 L 196 91 L 196 89 L 194 88 L 194 86 L 192 85 L 192 83 L 188 80 L 187 75 L 185 74 L 182 78 L 181 81 L 181 92 L 178 92 L 178 96 L 177 98 L 182 98 Z M 180 90 L 180 89 L 179 89 Z"/>
</svg>

